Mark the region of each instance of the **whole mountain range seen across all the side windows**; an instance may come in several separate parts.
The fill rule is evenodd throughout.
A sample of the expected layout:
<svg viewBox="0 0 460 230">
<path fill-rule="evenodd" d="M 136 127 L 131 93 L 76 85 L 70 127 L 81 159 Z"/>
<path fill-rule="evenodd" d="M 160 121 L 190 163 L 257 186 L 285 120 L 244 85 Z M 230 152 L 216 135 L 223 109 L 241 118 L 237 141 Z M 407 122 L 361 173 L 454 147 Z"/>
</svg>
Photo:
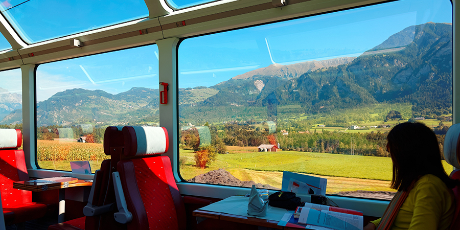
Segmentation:
<svg viewBox="0 0 460 230">
<path fill-rule="evenodd" d="M 411 103 L 414 116 L 423 116 L 451 108 L 451 85 L 452 25 L 428 22 L 388 37 L 359 57 L 272 64 L 209 88 L 180 88 L 179 106 L 300 104 L 305 111 L 329 112 L 372 103 Z M 1 96 L 0 108 L 10 110 L 0 112 L 20 105 Z M 76 88 L 39 102 L 37 124 L 157 121 L 157 108 L 158 89 L 139 87 L 112 95 Z M 0 124 L 18 122 L 20 115 L 15 110 Z"/>
</svg>

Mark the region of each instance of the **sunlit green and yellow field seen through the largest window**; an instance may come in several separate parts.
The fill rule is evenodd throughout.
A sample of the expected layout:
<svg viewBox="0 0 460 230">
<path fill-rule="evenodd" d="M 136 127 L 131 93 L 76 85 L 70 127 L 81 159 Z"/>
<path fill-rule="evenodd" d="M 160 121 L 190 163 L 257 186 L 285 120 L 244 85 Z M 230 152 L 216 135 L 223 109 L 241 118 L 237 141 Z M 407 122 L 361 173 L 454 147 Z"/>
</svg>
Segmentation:
<svg viewBox="0 0 460 230">
<path fill-rule="evenodd" d="M 291 171 L 327 178 L 328 194 L 356 190 L 394 191 L 388 188 L 392 179 L 389 157 L 295 151 L 246 152 L 218 154 L 209 168 L 198 169 L 193 151 L 180 150 L 180 155 L 188 158 L 186 165 L 179 169 L 184 179 L 222 168 L 240 180 L 281 188 L 282 172 Z M 449 174 L 452 166 L 445 161 L 443 164 Z"/>
</svg>

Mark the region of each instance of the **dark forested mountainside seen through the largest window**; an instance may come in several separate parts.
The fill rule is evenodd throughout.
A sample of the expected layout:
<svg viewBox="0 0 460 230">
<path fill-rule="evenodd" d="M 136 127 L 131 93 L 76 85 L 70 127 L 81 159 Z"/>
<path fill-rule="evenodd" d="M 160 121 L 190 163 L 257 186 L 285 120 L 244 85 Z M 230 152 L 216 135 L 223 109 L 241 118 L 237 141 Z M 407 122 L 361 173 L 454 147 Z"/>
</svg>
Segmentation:
<svg viewBox="0 0 460 230">
<path fill-rule="evenodd" d="M 235 77 L 201 106 L 301 105 L 306 113 L 410 103 L 413 117 L 451 111 L 452 26 L 428 22 L 389 37 L 350 63 L 300 77 Z M 293 75 L 289 75 L 293 76 Z"/>
</svg>

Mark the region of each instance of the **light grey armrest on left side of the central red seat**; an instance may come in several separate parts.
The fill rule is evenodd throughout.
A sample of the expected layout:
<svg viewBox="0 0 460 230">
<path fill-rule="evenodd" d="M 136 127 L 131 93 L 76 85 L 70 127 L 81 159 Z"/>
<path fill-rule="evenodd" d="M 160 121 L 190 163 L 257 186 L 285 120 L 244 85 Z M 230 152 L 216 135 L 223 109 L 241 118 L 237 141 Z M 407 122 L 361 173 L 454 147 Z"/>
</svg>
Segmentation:
<svg viewBox="0 0 460 230">
<path fill-rule="evenodd" d="M 117 199 L 118 213 L 114 213 L 113 217 L 119 223 L 129 223 L 132 220 L 132 214 L 128 211 L 125 194 L 121 185 L 120 173 L 113 172 L 113 188 L 115 190 L 115 198 Z"/>
</svg>

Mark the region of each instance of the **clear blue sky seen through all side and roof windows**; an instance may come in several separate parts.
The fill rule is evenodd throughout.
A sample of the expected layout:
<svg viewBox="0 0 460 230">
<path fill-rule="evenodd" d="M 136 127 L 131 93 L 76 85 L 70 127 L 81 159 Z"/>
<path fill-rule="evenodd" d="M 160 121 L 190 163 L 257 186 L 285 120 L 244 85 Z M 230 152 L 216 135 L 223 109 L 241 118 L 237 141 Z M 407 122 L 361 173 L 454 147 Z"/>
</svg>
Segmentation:
<svg viewBox="0 0 460 230">
<path fill-rule="evenodd" d="M 13 2 L 20 1 L 6 2 L 15 5 L 17 3 Z M 6 2 L 3 2 L 4 9 L 8 8 Z M 83 5 L 81 1 L 45 2 L 47 6 L 72 9 L 72 12 L 87 10 L 80 6 Z M 189 2 L 174 0 L 178 6 L 185 6 Z M 91 3 L 94 5 L 88 15 L 82 17 L 59 11 L 59 20 L 45 17 L 58 12 L 56 9 L 48 7 L 43 11 L 37 10 L 40 4 L 34 1 L 8 11 L 16 12 L 15 21 L 21 28 L 27 28 L 27 37 L 34 41 L 148 14 L 144 1 Z M 72 8 L 72 4 L 75 8 Z M 27 18 L 27 10 L 39 12 L 33 18 L 40 19 L 34 21 Z M 123 12 L 121 17 L 113 16 L 117 10 Z M 64 17 L 65 14 L 71 16 Z M 428 21 L 452 22 L 450 1 L 404 0 L 185 39 L 179 46 L 179 87 L 212 86 L 273 63 L 291 64 L 359 56 L 404 28 Z M 63 22 L 62 25 L 67 28 L 58 27 L 57 22 Z M 131 87 L 158 88 L 158 55 L 161 54 L 158 54 L 156 45 L 150 45 L 41 64 L 37 68 L 37 101 L 71 88 L 101 89 L 111 94 L 121 93 Z M 16 74 L 19 75 L 17 78 L 10 77 Z M 0 79 L 0 87 L 17 90 L 11 88 L 11 85 L 20 85 L 20 72 L 2 72 Z"/>
</svg>

